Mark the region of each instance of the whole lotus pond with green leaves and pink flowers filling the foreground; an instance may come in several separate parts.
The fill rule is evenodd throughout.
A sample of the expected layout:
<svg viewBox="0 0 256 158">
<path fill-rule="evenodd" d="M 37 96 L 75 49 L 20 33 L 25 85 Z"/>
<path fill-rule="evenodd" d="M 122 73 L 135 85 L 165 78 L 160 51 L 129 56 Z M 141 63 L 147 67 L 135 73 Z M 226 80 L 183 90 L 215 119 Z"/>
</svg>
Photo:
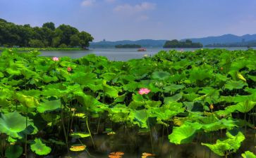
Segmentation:
<svg viewBox="0 0 256 158">
<path fill-rule="evenodd" d="M 256 51 L 0 56 L 0 157 L 255 158 Z"/>
</svg>

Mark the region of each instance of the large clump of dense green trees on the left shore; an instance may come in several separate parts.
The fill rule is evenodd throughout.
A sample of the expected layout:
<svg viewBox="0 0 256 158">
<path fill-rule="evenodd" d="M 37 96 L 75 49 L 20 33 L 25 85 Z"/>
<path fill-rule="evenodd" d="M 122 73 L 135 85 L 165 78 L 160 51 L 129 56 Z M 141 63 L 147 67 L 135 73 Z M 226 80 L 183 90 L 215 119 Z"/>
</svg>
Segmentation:
<svg viewBox="0 0 256 158">
<path fill-rule="evenodd" d="M 16 25 L 0 19 L 0 46 L 27 48 L 87 48 L 93 40 L 91 34 L 79 32 L 70 25 L 55 27 L 46 22 L 42 27 Z"/>
</svg>

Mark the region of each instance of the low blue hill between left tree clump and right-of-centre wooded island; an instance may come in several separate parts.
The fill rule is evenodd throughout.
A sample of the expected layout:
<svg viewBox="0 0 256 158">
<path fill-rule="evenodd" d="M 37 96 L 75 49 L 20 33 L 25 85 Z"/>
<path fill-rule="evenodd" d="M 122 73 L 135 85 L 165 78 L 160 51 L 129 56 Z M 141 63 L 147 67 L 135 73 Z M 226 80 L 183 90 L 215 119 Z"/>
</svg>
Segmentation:
<svg viewBox="0 0 256 158">
<path fill-rule="evenodd" d="M 91 42 L 90 48 L 114 48 L 116 45 L 138 44 L 142 47 L 163 47 L 167 40 L 141 39 L 138 41 L 98 41 Z"/>
</svg>

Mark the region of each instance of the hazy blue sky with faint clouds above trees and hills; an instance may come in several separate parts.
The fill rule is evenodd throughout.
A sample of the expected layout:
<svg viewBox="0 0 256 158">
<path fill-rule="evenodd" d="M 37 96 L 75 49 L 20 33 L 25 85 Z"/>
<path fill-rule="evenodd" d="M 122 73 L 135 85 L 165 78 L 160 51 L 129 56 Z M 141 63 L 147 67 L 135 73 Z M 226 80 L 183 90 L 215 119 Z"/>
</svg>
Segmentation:
<svg viewBox="0 0 256 158">
<path fill-rule="evenodd" d="M 256 34 L 256 0 L 0 0 L 19 25 L 71 25 L 95 41 Z"/>
</svg>

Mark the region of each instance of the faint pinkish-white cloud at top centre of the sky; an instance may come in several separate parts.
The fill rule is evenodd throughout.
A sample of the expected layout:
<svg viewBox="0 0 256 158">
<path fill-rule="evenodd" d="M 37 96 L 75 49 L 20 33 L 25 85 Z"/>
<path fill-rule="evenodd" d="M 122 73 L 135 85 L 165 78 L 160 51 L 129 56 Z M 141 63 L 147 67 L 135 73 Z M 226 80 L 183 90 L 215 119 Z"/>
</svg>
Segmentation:
<svg viewBox="0 0 256 158">
<path fill-rule="evenodd" d="M 141 4 L 136 4 L 135 6 L 132 6 L 130 4 L 123 4 L 123 5 L 116 6 L 116 8 L 114 8 L 114 11 L 130 14 L 130 13 L 154 10 L 155 6 L 156 4 L 152 4 L 150 2 L 142 2 Z"/>
</svg>

